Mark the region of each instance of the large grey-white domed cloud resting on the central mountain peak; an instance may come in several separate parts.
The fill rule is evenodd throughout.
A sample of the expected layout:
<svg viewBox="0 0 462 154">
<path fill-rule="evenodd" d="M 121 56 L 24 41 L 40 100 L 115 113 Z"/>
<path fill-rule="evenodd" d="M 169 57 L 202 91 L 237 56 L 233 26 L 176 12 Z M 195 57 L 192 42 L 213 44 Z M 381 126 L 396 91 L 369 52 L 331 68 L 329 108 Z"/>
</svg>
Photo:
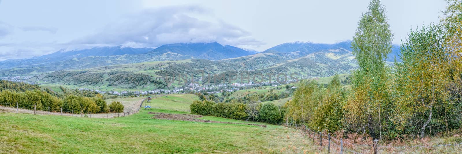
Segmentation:
<svg viewBox="0 0 462 154">
<path fill-rule="evenodd" d="M 121 18 L 96 34 L 70 44 L 158 47 L 170 43 L 212 41 L 245 47 L 263 44 L 253 39 L 248 31 L 213 18 L 209 10 L 198 6 L 147 9 Z"/>
</svg>

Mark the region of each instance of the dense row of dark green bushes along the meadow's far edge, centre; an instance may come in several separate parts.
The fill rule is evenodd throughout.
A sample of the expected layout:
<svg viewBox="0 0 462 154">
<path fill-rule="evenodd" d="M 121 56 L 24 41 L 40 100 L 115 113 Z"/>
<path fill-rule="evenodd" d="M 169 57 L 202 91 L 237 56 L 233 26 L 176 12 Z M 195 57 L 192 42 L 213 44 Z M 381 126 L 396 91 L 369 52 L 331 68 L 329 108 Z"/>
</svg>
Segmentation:
<svg viewBox="0 0 462 154">
<path fill-rule="evenodd" d="M 237 120 L 251 120 L 269 124 L 282 122 L 285 110 L 273 103 L 215 103 L 214 101 L 193 101 L 190 105 L 191 113 L 231 118 Z"/>
</svg>

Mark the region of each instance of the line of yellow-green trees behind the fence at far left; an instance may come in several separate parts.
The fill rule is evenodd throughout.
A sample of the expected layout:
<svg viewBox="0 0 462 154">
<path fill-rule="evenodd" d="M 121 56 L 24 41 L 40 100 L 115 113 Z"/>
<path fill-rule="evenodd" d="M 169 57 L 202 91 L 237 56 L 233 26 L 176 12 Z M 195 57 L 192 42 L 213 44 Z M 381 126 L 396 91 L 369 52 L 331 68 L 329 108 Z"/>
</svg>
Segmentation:
<svg viewBox="0 0 462 154">
<path fill-rule="evenodd" d="M 49 89 L 40 89 L 38 85 L 5 80 L 0 80 L 0 87 L 0 105 L 6 107 L 34 109 L 35 106 L 37 110 L 43 111 L 61 111 L 62 108 L 63 112 L 74 113 L 123 112 L 120 102 L 112 102 L 108 106 L 100 94 L 85 97 L 74 95 L 75 93 L 69 93 L 67 89 L 60 87 L 65 94 L 57 95 Z"/>
</svg>

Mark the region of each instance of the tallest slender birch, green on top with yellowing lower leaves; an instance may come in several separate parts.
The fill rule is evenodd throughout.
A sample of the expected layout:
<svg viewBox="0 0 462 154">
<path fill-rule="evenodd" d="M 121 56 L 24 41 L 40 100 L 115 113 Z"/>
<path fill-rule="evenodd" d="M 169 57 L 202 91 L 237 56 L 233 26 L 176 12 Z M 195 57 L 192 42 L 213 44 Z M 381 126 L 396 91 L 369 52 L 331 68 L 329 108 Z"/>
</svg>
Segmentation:
<svg viewBox="0 0 462 154">
<path fill-rule="evenodd" d="M 380 0 L 371 0 L 353 36 L 353 54 L 359 69 L 353 71 L 353 93 L 346 102 L 346 123 L 351 129 L 366 128 L 373 138 L 381 138 L 391 114 L 389 73 L 384 60 L 391 52 L 393 34 Z"/>
</svg>

